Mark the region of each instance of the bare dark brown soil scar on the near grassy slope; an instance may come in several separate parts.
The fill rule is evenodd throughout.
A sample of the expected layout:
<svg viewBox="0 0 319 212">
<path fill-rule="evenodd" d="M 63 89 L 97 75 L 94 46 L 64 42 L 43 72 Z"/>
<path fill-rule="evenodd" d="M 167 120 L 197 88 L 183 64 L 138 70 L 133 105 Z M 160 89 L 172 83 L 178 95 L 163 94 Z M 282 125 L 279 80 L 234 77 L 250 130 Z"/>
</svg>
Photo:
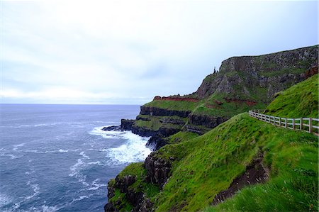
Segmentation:
<svg viewBox="0 0 319 212">
<path fill-rule="evenodd" d="M 252 163 L 246 167 L 244 174 L 236 177 L 230 184 L 228 189 L 220 191 L 213 200 L 213 205 L 225 201 L 235 194 L 236 191 L 242 189 L 245 186 L 251 184 L 259 184 L 266 182 L 269 178 L 269 170 L 262 165 L 263 155 L 259 155 L 259 158 L 253 160 Z"/>
</svg>

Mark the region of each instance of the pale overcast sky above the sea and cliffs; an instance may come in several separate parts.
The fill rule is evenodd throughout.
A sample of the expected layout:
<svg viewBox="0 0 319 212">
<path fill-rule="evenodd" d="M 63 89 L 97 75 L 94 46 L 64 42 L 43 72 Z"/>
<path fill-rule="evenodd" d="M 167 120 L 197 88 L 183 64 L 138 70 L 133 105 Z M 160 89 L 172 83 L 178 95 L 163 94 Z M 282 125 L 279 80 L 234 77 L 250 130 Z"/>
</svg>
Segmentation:
<svg viewBox="0 0 319 212">
<path fill-rule="evenodd" d="M 0 97 L 145 104 L 228 57 L 318 44 L 318 1 L 1 1 Z"/>
</svg>

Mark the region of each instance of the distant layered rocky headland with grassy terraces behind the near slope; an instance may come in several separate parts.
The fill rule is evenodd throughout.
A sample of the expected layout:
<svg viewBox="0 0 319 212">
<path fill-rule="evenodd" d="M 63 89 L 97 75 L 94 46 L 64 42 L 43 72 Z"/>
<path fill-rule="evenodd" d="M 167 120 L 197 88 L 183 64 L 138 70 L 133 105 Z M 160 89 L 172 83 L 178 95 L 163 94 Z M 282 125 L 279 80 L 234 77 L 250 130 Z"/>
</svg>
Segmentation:
<svg viewBox="0 0 319 212">
<path fill-rule="evenodd" d="M 236 114 L 266 108 L 276 93 L 311 76 L 311 67 L 318 72 L 318 45 L 231 57 L 193 94 L 155 96 L 135 121 L 124 120 L 123 128 L 142 136 L 167 137 L 181 130 L 202 135 Z"/>
</svg>

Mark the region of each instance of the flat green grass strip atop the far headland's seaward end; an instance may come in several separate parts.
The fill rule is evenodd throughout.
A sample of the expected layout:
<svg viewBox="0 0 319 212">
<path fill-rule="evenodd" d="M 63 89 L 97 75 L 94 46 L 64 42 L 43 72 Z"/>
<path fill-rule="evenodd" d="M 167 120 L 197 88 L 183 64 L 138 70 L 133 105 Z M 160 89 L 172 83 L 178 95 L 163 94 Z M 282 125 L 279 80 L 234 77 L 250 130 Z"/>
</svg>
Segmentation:
<svg viewBox="0 0 319 212">
<path fill-rule="evenodd" d="M 155 108 L 164 108 L 172 111 L 193 111 L 198 102 L 189 101 L 169 101 L 169 100 L 153 100 L 143 106 L 152 106 Z"/>
</svg>

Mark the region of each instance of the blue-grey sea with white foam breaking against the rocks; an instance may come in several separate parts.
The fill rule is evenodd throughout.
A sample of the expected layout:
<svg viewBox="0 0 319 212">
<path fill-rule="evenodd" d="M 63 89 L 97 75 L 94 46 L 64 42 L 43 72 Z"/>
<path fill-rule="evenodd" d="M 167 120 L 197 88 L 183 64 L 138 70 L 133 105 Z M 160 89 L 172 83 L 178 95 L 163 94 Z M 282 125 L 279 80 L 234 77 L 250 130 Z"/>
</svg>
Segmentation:
<svg viewBox="0 0 319 212">
<path fill-rule="evenodd" d="M 0 104 L 0 211 L 103 211 L 107 183 L 149 138 L 103 131 L 140 106 Z"/>
</svg>

